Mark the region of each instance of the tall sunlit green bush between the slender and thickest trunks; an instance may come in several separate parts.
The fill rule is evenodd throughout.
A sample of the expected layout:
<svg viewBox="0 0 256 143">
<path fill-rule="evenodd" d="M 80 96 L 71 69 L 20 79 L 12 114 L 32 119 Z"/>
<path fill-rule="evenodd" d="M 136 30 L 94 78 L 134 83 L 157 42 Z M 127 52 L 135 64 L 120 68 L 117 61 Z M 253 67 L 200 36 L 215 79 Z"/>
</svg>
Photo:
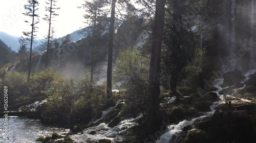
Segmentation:
<svg viewBox="0 0 256 143">
<path fill-rule="evenodd" d="M 150 59 L 130 47 L 119 53 L 117 61 L 114 78 L 122 82 L 121 88 L 125 90 L 124 109 L 133 113 L 139 109 L 145 117 Z"/>
</svg>

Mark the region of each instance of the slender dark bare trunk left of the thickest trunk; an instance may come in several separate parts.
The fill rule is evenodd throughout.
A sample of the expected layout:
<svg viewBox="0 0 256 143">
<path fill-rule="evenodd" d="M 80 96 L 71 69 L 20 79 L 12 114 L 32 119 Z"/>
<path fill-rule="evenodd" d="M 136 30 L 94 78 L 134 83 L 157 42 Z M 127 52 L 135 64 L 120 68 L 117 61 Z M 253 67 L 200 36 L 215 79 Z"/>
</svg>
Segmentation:
<svg viewBox="0 0 256 143">
<path fill-rule="evenodd" d="M 107 73 L 108 75 L 106 80 L 106 94 L 109 99 L 112 99 L 112 61 L 113 61 L 115 7 L 116 7 L 116 0 L 112 0 L 110 32 L 109 32 L 110 36 L 109 36 L 109 57 L 108 57 L 108 73 Z"/>
</svg>

